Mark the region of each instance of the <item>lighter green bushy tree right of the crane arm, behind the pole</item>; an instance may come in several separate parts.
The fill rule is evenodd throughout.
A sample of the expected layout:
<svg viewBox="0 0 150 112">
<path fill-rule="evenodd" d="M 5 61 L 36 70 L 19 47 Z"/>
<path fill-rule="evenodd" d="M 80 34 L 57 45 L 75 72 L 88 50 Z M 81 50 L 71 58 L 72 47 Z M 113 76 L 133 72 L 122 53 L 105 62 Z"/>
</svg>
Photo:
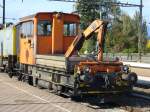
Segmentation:
<svg viewBox="0 0 150 112">
<path fill-rule="evenodd" d="M 119 21 L 114 21 L 111 28 L 111 51 L 113 52 L 138 52 L 138 37 L 140 31 L 139 13 L 136 12 L 134 17 L 131 18 L 128 14 L 123 13 L 120 16 Z M 142 48 L 145 49 L 147 26 L 146 22 L 143 22 L 143 39 Z"/>
</svg>

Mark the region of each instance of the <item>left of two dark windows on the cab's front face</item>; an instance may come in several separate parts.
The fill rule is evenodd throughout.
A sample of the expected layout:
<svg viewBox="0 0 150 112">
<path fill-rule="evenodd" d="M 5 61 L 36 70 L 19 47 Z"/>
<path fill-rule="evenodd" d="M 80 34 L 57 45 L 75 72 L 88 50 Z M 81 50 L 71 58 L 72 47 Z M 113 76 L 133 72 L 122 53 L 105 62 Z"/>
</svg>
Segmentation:
<svg viewBox="0 0 150 112">
<path fill-rule="evenodd" d="M 38 35 L 39 36 L 48 36 L 52 33 L 52 25 L 48 20 L 38 21 Z"/>
</svg>

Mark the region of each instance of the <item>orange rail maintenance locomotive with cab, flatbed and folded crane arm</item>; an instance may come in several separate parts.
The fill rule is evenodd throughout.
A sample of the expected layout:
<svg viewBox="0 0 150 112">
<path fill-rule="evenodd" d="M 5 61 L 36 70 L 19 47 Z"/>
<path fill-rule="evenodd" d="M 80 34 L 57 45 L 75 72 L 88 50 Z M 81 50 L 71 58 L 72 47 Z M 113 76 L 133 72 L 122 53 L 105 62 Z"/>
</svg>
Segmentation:
<svg viewBox="0 0 150 112">
<path fill-rule="evenodd" d="M 57 94 L 117 94 L 132 90 L 137 76 L 121 62 L 103 61 L 103 40 L 108 22 L 95 20 L 79 34 L 79 16 L 37 13 L 15 26 L 19 43 L 17 58 L 8 57 L 9 76 Z M 98 33 L 98 59 L 79 56 L 85 40 Z M 17 61 L 14 61 L 16 60 Z"/>
</svg>

